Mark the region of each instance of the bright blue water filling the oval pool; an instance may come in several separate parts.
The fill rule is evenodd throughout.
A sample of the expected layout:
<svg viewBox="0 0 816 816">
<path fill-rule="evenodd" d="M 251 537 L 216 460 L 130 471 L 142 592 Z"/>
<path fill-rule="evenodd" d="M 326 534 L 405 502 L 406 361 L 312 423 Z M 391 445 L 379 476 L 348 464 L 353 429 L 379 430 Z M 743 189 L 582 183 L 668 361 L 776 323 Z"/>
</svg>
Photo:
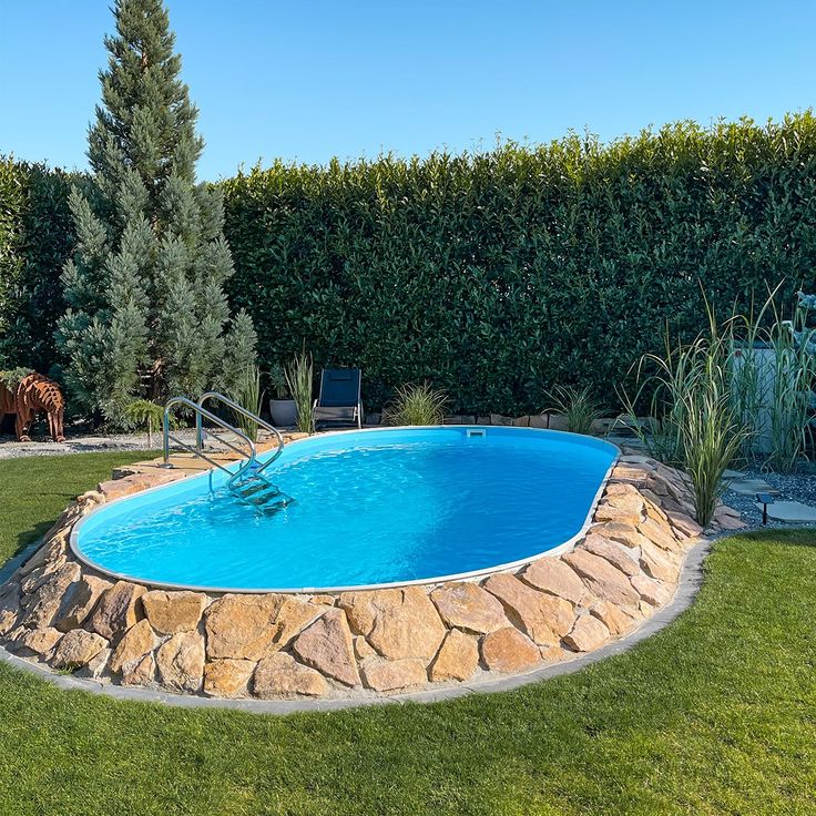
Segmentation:
<svg viewBox="0 0 816 816">
<path fill-rule="evenodd" d="M 152 584 L 297 590 L 487 571 L 578 534 L 616 448 L 570 434 L 395 428 L 288 445 L 266 475 L 295 502 L 267 516 L 214 479 L 103 507 L 76 554 Z"/>
</svg>

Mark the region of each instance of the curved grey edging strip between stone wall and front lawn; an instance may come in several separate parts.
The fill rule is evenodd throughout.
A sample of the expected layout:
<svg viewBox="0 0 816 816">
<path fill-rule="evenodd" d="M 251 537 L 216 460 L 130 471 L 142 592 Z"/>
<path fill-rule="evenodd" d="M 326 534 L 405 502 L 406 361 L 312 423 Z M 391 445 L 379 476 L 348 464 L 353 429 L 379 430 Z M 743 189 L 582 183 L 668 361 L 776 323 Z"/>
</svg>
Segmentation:
<svg viewBox="0 0 816 816">
<path fill-rule="evenodd" d="M 673 623 L 694 602 L 703 584 L 703 562 L 711 552 L 713 540 L 704 539 L 694 544 L 686 553 L 682 567 L 677 589 L 672 600 L 655 612 L 641 626 L 618 641 L 604 646 L 577 655 L 570 661 L 551 663 L 539 666 L 522 674 L 511 674 L 504 677 L 491 677 L 482 682 L 462 683 L 447 688 L 430 688 L 392 696 L 371 695 L 371 697 L 346 697 L 329 700 L 252 700 L 228 697 L 201 697 L 171 692 L 156 692 L 135 686 L 119 686 L 111 683 L 99 683 L 83 677 L 68 674 L 55 674 L 45 664 L 31 663 L 18 657 L 0 646 L 0 662 L 14 669 L 27 671 L 45 680 L 62 691 L 80 691 L 113 700 L 126 702 L 154 703 L 177 708 L 226 708 L 251 714 L 286 715 L 303 712 L 332 712 L 346 708 L 360 708 L 369 705 L 391 705 L 399 703 L 437 703 L 470 694 L 491 694 L 512 691 L 539 681 L 574 674 L 586 666 L 600 663 L 608 657 L 624 654 L 634 649 L 640 642 L 651 638 Z"/>
</svg>

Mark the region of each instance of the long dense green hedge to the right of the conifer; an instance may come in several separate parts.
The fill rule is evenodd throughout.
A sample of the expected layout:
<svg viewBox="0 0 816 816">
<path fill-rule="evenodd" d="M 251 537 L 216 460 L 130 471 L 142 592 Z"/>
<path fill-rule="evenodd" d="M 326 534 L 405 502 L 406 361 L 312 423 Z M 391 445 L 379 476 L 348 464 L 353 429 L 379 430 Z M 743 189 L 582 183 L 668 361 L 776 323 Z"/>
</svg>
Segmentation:
<svg viewBox="0 0 816 816">
<path fill-rule="evenodd" d="M 666 327 L 693 335 L 785 277 L 813 288 L 816 120 L 680 123 L 603 145 L 569 137 L 476 155 L 224 181 L 225 233 L 265 365 L 305 344 L 359 365 L 371 407 L 400 382 L 456 409 L 540 409 L 555 382 L 614 386 Z"/>
</svg>

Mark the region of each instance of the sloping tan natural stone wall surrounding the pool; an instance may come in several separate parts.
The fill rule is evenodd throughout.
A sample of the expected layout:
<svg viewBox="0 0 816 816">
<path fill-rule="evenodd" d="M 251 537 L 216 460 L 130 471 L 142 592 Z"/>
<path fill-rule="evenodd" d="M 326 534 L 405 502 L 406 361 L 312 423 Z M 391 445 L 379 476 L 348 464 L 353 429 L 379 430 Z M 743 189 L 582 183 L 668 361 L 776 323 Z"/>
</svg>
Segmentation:
<svg viewBox="0 0 816 816">
<path fill-rule="evenodd" d="M 686 479 L 642 456 L 615 465 L 586 534 L 561 555 L 478 581 L 339 594 L 208 594 L 112 581 L 69 550 L 136 473 L 81 496 L 0 588 L 0 643 L 57 670 L 223 697 L 392 694 L 524 672 L 622 638 L 671 600 L 702 533 Z M 717 522 L 738 516 L 721 508 Z"/>
</svg>

